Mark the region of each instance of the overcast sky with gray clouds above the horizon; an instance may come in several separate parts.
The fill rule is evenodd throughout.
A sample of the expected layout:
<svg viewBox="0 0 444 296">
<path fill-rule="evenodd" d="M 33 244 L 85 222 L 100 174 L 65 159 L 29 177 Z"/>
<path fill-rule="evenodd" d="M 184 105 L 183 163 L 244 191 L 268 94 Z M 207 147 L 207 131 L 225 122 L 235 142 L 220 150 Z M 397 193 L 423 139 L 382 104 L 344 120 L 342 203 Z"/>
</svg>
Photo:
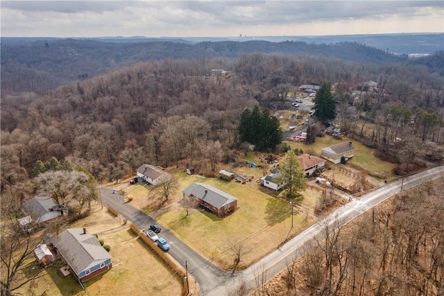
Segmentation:
<svg viewBox="0 0 444 296">
<path fill-rule="evenodd" d="M 443 33 L 444 1 L 3 1 L 3 37 Z"/>
</svg>

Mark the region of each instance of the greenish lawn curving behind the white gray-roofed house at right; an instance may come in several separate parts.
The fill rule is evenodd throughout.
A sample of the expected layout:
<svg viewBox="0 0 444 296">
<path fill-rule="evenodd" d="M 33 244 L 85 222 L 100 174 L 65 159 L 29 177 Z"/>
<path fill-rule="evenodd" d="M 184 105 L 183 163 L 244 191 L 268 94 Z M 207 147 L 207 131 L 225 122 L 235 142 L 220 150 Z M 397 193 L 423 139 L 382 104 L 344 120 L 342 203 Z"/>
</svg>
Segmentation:
<svg viewBox="0 0 444 296">
<path fill-rule="evenodd" d="M 396 177 L 393 175 L 392 171 L 395 165 L 390 162 L 385 162 L 378 157 L 373 155 L 374 149 L 370 149 L 357 141 L 352 141 L 347 137 L 343 137 L 342 140 L 334 139 L 330 136 L 317 137 L 316 142 L 310 145 L 306 145 L 302 142 L 288 142 L 291 148 L 299 148 L 304 151 L 304 153 L 311 153 L 318 157 L 321 157 L 321 149 L 332 146 L 337 143 L 343 143 L 345 141 L 351 141 L 353 146 L 356 148 L 355 156 L 350 159 L 348 166 L 352 166 L 359 170 L 364 170 L 373 177 L 376 177 L 380 181 L 384 180 L 395 180 Z"/>
</svg>

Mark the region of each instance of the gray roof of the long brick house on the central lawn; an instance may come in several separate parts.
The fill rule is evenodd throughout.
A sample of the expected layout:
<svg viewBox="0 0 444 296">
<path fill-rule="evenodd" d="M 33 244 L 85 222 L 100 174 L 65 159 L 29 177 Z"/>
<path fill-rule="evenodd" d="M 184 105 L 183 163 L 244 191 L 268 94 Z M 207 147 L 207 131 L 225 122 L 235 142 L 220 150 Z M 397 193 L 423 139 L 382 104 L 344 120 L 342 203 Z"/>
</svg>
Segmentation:
<svg viewBox="0 0 444 296">
<path fill-rule="evenodd" d="M 193 183 L 182 192 L 187 196 L 192 194 L 196 198 L 211 204 L 217 209 L 237 200 L 234 196 L 204 183 Z"/>
</svg>

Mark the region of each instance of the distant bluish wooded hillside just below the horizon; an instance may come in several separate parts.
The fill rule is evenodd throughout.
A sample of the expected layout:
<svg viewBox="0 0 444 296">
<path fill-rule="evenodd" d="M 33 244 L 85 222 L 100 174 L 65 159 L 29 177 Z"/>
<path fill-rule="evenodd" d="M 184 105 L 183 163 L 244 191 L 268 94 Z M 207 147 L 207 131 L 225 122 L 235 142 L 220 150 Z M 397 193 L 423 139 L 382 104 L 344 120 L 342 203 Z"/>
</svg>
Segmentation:
<svg viewBox="0 0 444 296">
<path fill-rule="evenodd" d="M 7 38 L 6 38 L 7 39 Z M 42 92 L 74 80 L 146 60 L 207 57 L 236 58 L 254 52 L 321 55 L 369 64 L 402 61 L 397 55 L 363 44 L 306 42 L 103 42 L 97 40 L 13 40 L 1 46 L 1 90 Z M 108 40 L 110 41 L 110 40 Z M 134 40 L 133 40 L 134 41 Z"/>
</svg>

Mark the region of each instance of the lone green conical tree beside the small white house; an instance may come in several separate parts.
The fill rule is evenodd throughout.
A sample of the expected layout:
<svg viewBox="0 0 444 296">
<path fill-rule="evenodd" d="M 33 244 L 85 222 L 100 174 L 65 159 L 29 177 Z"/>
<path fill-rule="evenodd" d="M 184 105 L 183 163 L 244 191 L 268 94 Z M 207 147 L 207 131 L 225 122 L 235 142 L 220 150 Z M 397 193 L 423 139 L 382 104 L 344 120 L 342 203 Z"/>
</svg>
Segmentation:
<svg viewBox="0 0 444 296">
<path fill-rule="evenodd" d="M 302 202 L 303 196 L 299 192 L 305 189 L 305 176 L 293 150 L 285 153 L 279 162 L 279 171 L 280 175 L 276 181 L 285 184 L 285 198 Z"/>
</svg>

